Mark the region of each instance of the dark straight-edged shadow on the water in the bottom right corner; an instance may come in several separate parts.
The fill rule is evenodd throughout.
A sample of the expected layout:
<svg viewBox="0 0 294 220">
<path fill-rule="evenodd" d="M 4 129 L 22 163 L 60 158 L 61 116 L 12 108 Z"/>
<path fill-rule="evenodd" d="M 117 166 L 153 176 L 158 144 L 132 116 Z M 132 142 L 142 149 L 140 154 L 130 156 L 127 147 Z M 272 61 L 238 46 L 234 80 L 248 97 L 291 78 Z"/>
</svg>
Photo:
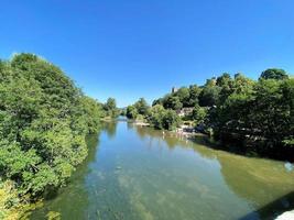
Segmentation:
<svg viewBox="0 0 294 220">
<path fill-rule="evenodd" d="M 252 220 L 252 219 L 273 220 L 284 211 L 293 209 L 294 209 L 294 191 L 288 193 L 279 199 L 275 199 L 274 201 L 263 206 L 257 211 L 246 215 L 239 220 Z"/>
</svg>

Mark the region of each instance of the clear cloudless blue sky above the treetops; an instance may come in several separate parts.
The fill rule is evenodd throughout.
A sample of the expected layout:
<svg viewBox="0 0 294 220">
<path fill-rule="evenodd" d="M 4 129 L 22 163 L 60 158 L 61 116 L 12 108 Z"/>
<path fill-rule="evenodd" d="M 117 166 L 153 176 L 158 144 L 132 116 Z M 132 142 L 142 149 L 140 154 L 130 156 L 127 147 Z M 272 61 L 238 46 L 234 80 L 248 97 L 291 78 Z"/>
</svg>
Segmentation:
<svg viewBox="0 0 294 220">
<path fill-rule="evenodd" d="M 31 52 L 120 107 L 268 67 L 294 73 L 293 0 L 1 0 L 0 57 Z"/>
</svg>

